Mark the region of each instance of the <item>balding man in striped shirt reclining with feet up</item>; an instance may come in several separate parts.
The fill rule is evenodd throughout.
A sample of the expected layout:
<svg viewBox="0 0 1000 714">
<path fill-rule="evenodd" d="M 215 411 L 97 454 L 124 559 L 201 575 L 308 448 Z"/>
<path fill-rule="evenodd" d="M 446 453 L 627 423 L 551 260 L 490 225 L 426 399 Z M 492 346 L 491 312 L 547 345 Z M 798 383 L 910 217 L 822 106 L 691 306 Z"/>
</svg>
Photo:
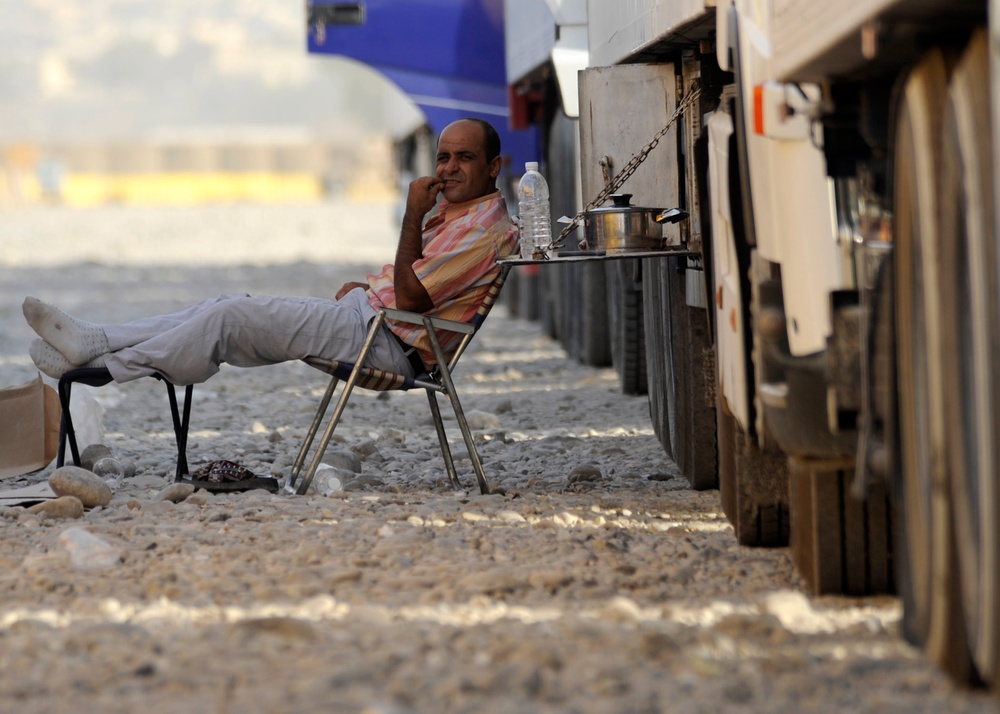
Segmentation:
<svg viewBox="0 0 1000 714">
<path fill-rule="evenodd" d="M 41 339 L 29 353 L 58 379 L 78 367 L 106 367 L 116 382 L 161 374 L 177 385 L 204 382 L 223 363 L 238 367 L 305 357 L 353 361 L 380 307 L 469 321 L 512 254 L 517 228 L 496 188 L 500 137 L 487 122 L 461 119 L 438 139 L 435 176 L 410 183 L 396 259 L 336 299 L 223 295 L 168 315 L 98 325 L 28 297 L 24 317 Z M 425 215 L 440 201 L 423 225 Z M 446 351 L 458 336 L 442 333 Z M 367 364 L 413 376 L 414 350 L 434 355 L 420 328 L 387 322 Z"/>
</svg>

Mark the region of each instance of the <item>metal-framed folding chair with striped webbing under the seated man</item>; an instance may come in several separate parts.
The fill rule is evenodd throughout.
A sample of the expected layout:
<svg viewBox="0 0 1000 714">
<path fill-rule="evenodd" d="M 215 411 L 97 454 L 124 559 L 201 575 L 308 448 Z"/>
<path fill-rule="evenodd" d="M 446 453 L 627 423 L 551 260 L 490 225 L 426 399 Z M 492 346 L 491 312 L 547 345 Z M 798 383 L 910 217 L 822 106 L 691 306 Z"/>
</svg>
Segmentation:
<svg viewBox="0 0 1000 714">
<path fill-rule="evenodd" d="M 319 468 L 323 455 L 326 453 L 326 449 L 330 444 L 330 440 L 333 438 L 333 432 L 337 428 L 337 424 L 340 422 L 341 416 L 343 416 L 344 409 L 347 407 L 347 401 L 350 399 L 351 392 L 355 387 L 362 387 L 364 389 L 371 389 L 375 391 L 406 391 L 410 389 L 423 389 L 426 391 L 427 400 L 430 403 L 431 415 L 434 418 L 434 426 L 437 430 L 438 441 L 441 444 L 441 454 L 444 456 L 445 468 L 448 471 L 448 479 L 452 486 L 456 489 L 460 489 L 462 486 L 458 480 L 458 474 L 455 470 L 455 463 L 451 456 L 451 449 L 448 446 L 448 437 L 445 434 L 444 423 L 441 420 L 441 410 L 437 402 L 438 393 L 446 395 L 448 400 L 451 402 L 452 409 L 455 412 L 455 419 L 458 421 L 458 426 L 462 430 L 462 437 L 465 439 L 465 446 L 469 450 L 469 458 L 472 460 L 472 467 L 476 472 L 476 480 L 479 483 L 479 490 L 482 493 L 489 493 L 490 486 L 486 480 L 486 473 L 483 470 L 483 462 L 479 458 L 479 452 L 476 450 L 475 442 L 472 439 L 472 431 L 469 429 L 469 424 L 465 419 L 465 412 L 462 411 L 462 405 L 459 402 L 458 393 L 456 392 L 455 384 L 452 381 L 452 371 L 455 369 L 455 365 L 458 364 L 458 360 L 462 356 L 462 353 L 465 352 L 465 348 L 468 347 L 472 338 L 479 331 L 479 328 L 482 327 L 483 322 L 486 320 L 486 316 L 496 303 L 496 300 L 500 295 L 500 289 L 503 287 L 504 281 L 507 279 L 508 272 L 510 272 L 509 265 L 500 266 L 500 274 L 490 285 L 486 299 L 483 301 L 483 304 L 480 306 L 479 310 L 469 323 L 456 322 L 454 320 L 443 320 L 441 318 L 429 317 L 427 315 L 407 312 L 404 310 L 382 308 L 378 311 L 376 318 L 372 321 L 371 329 L 368 331 L 368 337 L 361 348 L 361 354 L 358 355 L 356 362 L 351 363 L 307 357 L 304 360 L 306 364 L 326 372 L 331 375 L 331 379 L 329 386 L 326 388 L 326 393 L 320 401 L 319 408 L 316 410 L 316 416 L 313 418 L 312 425 L 309 427 L 309 432 L 306 434 L 302 448 L 299 449 L 299 454 L 292 465 L 292 472 L 287 481 L 285 481 L 285 490 L 289 493 L 297 493 L 300 495 L 304 494 L 308 490 L 309 484 L 312 483 L 313 477 L 316 475 L 316 470 Z M 437 364 L 434 366 L 434 369 L 429 371 L 427 369 L 419 369 L 416 370 L 417 374 L 415 377 L 408 377 L 395 372 L 386 372 L 373 367 L 364 366 L 365 358 L 367 358 L 372 344 L 375 342 L 375 337 L 378 335 L 379 330 L 382 329 L 382 324 L 385 322 L 386 318 L 396 320 L 398 322 L 405 322 L 411 325 L 423 325 L 424 330 L 430 339 L 431 349 L 434 351 L 434 356 L 437 358 Z M 436 330 L 450 331 L 462 335 L 462 339 L 450 359 L 445 355 L 444 350 L 441 349 L 441 344 L 438 341 L 437 334 L 435 332 Z M 413 354 L 416 355 L 417 353 L 414 352 Z M 417 358 L 417 361 L 419 361 L 419 358 Z M 424 365 L 422 363 L 415 365 L 415 367 L 423 366 Z M 319 446 L 316 448 L 316 452 L 309 464 L 309 468 L 306 470 L 305 476 L 301 481 L 299 481 L 299 475 L 302 471 L 302 467 L 305 465 L 306 456 L 316 438 L 316 434 L 319 431 L 323 417 L 326 415 L 327 408 L 330 405 L 330 401 L 337 388 L 337 384 L 341 380 L 344 381 L 344 387 L 341 390 L 337 405 L 334 407 L 330 423 L 323 432 Z M 296 481 L 299 481 L 297 487 Z"/>
</svg>

